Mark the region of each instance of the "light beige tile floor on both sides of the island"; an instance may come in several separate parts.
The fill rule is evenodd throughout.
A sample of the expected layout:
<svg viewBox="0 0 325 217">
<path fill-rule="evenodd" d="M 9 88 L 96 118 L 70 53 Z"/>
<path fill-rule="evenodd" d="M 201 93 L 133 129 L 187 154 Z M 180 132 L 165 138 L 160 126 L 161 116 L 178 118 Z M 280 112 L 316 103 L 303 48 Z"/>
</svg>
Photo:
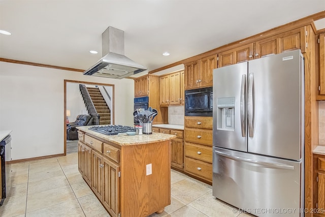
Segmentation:
<svg viewBox="0 0 325 217">
<path fill-rule="evenodd" d="M 12 164 L 0 216 L 110 216 L 78 171 L 78 153 Z M 171 171 L 171 205 L 153 216 L 248 216 L 212 196 L 211 185 Z M 132 216 L 137 217 L 137 216 Z"/>
</svg>

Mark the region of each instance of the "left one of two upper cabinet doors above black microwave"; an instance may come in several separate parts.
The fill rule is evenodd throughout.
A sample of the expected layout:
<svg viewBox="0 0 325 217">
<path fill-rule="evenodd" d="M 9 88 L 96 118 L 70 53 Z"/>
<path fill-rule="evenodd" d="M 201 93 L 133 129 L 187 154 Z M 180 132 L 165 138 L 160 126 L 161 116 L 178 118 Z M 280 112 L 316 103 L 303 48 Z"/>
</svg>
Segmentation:
<svg viewBox="0 0 325 217">
<path fill-rule="evenodd" d="M 185 64 L 185 89 L 200 87 L 200 62 L 192 61 Z"/>
</svg>

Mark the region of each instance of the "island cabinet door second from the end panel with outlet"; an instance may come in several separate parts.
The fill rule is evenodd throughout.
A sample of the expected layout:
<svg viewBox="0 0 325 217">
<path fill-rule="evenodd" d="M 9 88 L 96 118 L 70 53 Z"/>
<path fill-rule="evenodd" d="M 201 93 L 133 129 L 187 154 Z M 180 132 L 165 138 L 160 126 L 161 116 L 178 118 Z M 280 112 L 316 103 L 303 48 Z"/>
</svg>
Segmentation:
<svg viewBox="0 0 325 217">
<path fill-rule="evenodd" d="M 92 153 L 92 179 L 91 188 L 100 201 L 103 201 L 103 157 L 100 153 Z"/>
</svg>

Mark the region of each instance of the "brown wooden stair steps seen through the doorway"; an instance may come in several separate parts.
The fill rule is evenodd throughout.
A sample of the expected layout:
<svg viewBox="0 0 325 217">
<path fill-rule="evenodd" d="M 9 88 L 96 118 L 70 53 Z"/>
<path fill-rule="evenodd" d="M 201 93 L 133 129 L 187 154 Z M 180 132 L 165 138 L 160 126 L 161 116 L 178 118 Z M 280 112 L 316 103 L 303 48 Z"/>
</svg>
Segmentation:
<svg viewBox="0 0 325 217">
<path fill-rule="evenodd" d="M 100 125 L 111 124 L 111 110 L 106 104 L 99 88 L 87 87 L 90 98 L 97 113 L 100 115 Z"/>
</svg>

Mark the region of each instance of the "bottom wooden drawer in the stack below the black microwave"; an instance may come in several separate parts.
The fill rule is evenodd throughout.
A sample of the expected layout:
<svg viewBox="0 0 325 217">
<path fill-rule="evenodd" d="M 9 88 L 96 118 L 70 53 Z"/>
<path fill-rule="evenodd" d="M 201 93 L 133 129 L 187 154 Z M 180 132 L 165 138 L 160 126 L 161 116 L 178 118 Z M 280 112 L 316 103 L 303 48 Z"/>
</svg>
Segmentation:
<svg viewBox="0 0 325 217">
<path fill-rule="evenodd" d="M 212 164 L 185 157 L 185 171 L 212 181 Z"/>
</svg>

